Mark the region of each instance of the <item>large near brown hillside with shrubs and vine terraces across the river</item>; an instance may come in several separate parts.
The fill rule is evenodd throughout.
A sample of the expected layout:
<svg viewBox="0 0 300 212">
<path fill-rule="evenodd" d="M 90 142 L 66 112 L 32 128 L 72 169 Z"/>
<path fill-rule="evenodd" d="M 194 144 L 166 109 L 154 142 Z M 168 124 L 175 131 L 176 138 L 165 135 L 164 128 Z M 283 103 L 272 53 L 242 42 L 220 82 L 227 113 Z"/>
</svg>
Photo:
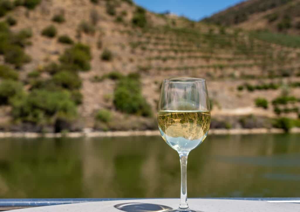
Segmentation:
<svg viewBox="0 0 300 212">
<path fill-rule="evenodd" d="M 157 129 L 169 77 L 208 80 L 214 128 L 298 118 L 297 36 L 154 14 L 130 0 L 0 5 L 3 131 Z"/>
</svg>

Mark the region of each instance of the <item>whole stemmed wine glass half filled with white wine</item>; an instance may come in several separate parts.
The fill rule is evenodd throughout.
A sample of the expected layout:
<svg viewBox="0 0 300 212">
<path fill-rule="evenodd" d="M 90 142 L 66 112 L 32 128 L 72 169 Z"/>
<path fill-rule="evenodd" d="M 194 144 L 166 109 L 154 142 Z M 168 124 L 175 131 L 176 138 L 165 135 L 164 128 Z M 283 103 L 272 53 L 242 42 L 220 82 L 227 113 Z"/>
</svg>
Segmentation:
<svg viewBox="0 0 300 212">
<path fill-rule="evenodd" d="M 180 204 L 173 212 L 199 212 L 187 204 L 187 156 L 206 138 L 210 105 L 204 79 L 170 78 L 161 86 L 158 127 L 166 143 L 179 153 L 181 164 Z"/>
</svg>

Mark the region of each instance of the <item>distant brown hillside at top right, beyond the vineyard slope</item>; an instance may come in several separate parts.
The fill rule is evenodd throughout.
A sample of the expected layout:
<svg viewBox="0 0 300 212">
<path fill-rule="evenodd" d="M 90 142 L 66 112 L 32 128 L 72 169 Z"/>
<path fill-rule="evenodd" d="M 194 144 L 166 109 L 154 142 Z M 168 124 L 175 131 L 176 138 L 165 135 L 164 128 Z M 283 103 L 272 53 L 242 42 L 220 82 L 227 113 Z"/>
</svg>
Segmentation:
<svg viewBox="0 0 300 212">
<path fill-rule="evenodd" d="M 268 29 L 299 35 L 300 1 L 298 0 L 250 0 L 241 2 L 203 21 L 242 29 Z"/>
</svg>

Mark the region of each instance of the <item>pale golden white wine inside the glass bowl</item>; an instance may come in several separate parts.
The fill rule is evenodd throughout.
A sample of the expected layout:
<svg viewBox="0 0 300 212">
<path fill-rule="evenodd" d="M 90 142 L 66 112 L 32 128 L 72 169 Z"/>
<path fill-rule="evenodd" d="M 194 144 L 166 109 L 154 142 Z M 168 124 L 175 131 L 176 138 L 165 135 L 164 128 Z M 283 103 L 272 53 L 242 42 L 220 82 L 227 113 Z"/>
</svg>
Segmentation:
<svg viewBox="0 0 300 212">
<path fill-rule="evenodd" d="M 188 153 L 206 138 L 210 111 L 159 111 L 158 127 L 164 141 L 179 153 Z"/>
</svg>

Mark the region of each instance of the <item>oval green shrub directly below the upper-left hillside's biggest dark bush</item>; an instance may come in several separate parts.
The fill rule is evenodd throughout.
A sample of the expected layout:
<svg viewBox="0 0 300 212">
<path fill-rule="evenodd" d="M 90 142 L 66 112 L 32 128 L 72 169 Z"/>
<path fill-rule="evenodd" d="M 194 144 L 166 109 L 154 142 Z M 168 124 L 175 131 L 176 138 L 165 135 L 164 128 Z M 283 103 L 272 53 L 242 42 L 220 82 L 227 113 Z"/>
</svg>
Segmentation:
<svg viewBox="0 0 300 212">
<path fill-rule="evenodd" d="M 59 71 L 53 75 L 52 80 L 56 85 L 70 90 L 78 89 L 81 86 L 80 77 L 70 71 Z"/>
</svg>

